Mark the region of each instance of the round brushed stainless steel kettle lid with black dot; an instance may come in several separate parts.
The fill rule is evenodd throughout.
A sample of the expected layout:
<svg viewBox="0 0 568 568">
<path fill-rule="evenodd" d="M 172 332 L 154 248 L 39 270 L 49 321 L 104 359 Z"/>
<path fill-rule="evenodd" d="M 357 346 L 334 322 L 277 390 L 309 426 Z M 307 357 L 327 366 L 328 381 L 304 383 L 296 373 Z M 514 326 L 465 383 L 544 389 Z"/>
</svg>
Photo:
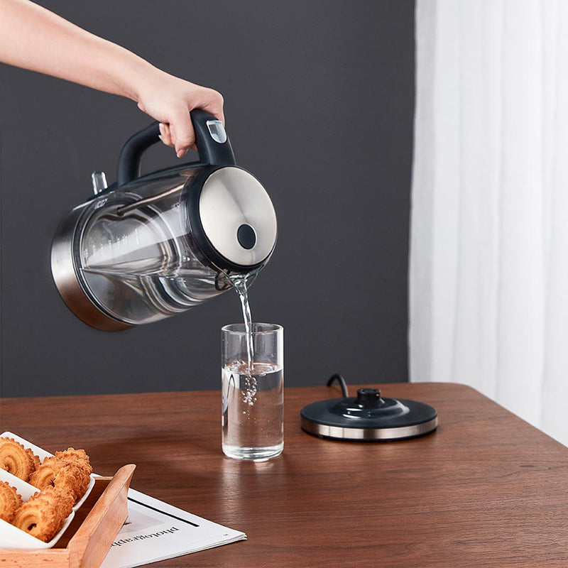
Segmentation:
<svg viewBox="0 0 568 568">
<path fill-rule="evenodd" d="M 251 173 L 234 166 L 214 170 L 195 205 L 204 236 L 222 257 L 219 263 L 226 265 L 219 268 L 258 266 L 271 255 L 276 214 L 268 193 Z"/>
</svg>

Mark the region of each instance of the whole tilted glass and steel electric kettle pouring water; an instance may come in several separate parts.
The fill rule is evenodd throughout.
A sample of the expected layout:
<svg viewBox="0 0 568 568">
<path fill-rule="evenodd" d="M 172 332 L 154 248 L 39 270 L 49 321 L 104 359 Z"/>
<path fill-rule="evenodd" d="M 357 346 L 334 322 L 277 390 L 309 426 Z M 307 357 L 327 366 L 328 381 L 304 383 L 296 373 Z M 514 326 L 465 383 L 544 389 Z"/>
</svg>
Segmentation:
<svg viewBox="0 0 568 568">
<path fill-rule="evenodd" d="M 249 282 L 268 262 L 276 217 L 266 190 L 234 163 L 220 121 L 196 109 L 197 163 L 139 176 L 142 153 L 159 141 L 154 123 L 119 156 L 115 184 L 93 174 L 95 195 L 55 234 L 51 266 L 67 307 L 113 331 L 184 312 Z"/>
</svg>

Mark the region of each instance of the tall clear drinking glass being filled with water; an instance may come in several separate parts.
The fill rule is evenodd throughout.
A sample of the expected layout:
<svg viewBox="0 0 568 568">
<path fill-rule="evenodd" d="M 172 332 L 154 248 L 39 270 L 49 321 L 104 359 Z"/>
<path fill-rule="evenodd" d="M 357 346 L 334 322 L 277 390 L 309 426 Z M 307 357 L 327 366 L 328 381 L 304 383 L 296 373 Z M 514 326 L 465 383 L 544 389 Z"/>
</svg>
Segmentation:
<svg viewBox="0 0 568 568">
<path fill-rule="evenodd" d="M 221 331 L 223 452 L 257 461 L 276 457 L 284 447 L 284 329 L 253 323 L 251 334 L 244 324 Z"/>
</svg>

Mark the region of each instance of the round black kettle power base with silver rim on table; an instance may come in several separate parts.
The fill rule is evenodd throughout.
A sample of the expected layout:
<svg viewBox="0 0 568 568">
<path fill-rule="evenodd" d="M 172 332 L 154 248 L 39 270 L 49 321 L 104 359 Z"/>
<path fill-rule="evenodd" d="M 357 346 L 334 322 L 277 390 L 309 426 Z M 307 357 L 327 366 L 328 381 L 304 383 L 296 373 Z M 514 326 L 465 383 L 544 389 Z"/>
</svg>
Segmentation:
<svg viewBox="0 0 568 568">
<path fill-rule="evenodd" d="M 381 398 L 380 391 L 374 388 L 359 389 L 357 398 L 312 403 L 302 408 L 300 417 L 302 430 L 308 434 L 352 442 L 415 438 L 436 430 L 438 425 L 432 406 L 415 400 Z"/>
</svg>

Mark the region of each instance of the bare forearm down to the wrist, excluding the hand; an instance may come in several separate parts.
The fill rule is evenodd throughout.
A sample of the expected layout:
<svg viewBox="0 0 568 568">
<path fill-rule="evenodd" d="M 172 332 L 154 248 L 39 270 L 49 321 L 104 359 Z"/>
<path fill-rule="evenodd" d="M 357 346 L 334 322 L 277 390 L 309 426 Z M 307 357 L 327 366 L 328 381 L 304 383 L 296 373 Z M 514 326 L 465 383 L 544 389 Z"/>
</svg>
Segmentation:
<svg viewBox="0 0 568 568">
<path fill-rule="evenodd" d="M 162 71 L 27 0 L 0 0 L 0 61 L 138 101 Z"/>
</svg>

